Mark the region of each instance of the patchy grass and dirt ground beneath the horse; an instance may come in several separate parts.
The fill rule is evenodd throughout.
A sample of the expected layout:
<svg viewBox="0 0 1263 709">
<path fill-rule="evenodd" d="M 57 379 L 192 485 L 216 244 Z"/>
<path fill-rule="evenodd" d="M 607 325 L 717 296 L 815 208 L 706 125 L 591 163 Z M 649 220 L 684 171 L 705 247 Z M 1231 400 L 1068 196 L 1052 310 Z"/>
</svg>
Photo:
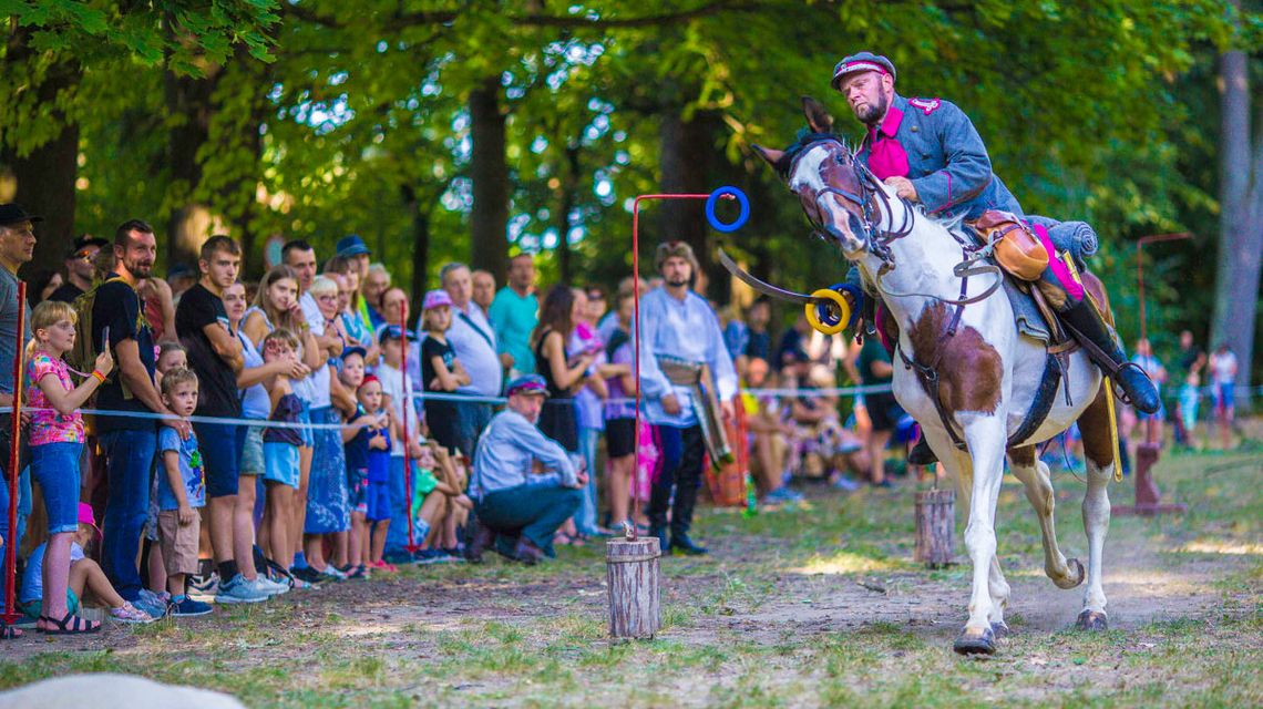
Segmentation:
<svg viewBox="0 0 1263 709">
<path fill-rule="evenodd" d="M 218 609 L 205 622 L 115 631 L 107 648 L 6 645 L 0 689 L 115 671 L 229 691 L 250 706 L 304 709 L 1258 706 L 1260 463 L 1259 449 L 1168 454 L 1157 480 L 1188 514 L 1111 522 L 1108 554 L 1143 552 L 1164 578 L 1207 579 L 1200 593 L 1218 603 L 1089 636 L 1068 629 L 1072 614 L 1038 627 L 1039 609 L 1014 598 L 1008 618 L 1017 633 L 986 661 L 950 651 L 969 566 L 927 571 L 911 562 L 904 484 L 849 497 L 813 492 L 801 508 L 753 518 L 703 511 L 697 533 L 715 554 L 662 562 L 663 623 L 650 641 L 605 637 L 604 548 L 594 543 L 541 567 L 409 569 L 395 580 Z M 1082 485 L 1066 473 L 1053 484 L 1062 548 L 1086 560 Z M 1110 497 L 1130 502 L 1130 482 L 1111 485 Z M 1050 584 L 1038 524 L 1015 483 L 1005 483 L 997 524 L 1010 583 Z M 1129 586 L 1111 584 L 1106 561 L 1106 591 L 1116 598 Z M 863 609 L 908 598 L 921 602 L 893 614 Z"/>
</svg>

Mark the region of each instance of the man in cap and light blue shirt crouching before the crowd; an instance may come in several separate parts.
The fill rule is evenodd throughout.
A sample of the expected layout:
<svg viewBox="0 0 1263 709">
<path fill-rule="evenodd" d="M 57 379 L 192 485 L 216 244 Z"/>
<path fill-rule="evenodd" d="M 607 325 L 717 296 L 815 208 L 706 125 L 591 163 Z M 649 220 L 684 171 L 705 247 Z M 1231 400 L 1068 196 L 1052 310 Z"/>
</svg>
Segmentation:
<svg viewBox="0 0 1263 709">
<path fill-rule="evenodd" d="M 543 377 L 519 377 L 508 394 L 509 407 L 491 418 L 474 454 L 470 497 L 479 532 L 469 555 L 479 559 L 494 541 L 501 555 L 536 564 L 556 556 L 553 535 L 578 509 L 587 473 L 536 427 L 548 398 Z M 546 471 L 532 473 L 536 463 Z"/>
</svg>

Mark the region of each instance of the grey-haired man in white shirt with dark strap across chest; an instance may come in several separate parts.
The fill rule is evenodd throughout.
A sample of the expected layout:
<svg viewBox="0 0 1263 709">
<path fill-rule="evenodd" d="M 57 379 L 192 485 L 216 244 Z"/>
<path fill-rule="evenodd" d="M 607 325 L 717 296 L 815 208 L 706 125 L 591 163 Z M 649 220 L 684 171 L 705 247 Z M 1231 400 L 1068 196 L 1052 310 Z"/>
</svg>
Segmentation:
<svg viewBox="0 0 1263 709">
<path fill-rule="evenodd" d="M 456 359 L 470 373 L 470 383 L 456 389 L 470 397 L 499 397 L 504 382 L 504 369 L 496 354 L 495 331 L 482 308 L 472 301 L 474 278 L 464 263 L 448 263 L 438 272 L 440 282 L 452 298 L 452 326 L 447 341 L 456 351 Z M 471 401 L 457 404 L 460 432 L 457 446 L 474 458 L 477 437 L 491 421 L 489 402 Z"/>
</svg>

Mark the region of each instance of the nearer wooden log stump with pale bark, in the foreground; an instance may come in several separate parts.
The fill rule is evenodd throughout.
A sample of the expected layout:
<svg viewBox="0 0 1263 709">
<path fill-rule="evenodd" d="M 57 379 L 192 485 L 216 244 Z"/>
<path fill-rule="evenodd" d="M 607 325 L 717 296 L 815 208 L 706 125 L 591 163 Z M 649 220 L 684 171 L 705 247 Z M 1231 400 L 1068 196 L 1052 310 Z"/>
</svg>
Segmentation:
<svg viewBox="0 0 1263 709">
<path fill-rule="evenodd" d="M 658 537 L 610 540 L 605 547 L 610 586 L 610 637 L 652 638 L 662 624 Z"/>
</svg>

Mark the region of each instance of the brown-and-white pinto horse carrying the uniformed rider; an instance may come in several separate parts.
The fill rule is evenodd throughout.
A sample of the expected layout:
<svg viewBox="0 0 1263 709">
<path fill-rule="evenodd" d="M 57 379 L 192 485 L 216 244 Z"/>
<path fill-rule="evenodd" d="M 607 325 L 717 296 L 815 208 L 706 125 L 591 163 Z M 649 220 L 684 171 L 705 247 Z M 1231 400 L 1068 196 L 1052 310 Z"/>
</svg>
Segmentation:
<svg viewBox="0 0 1263 709">
<path fill-rule="evenodd" d="M 1036 455 L 1037 444 L 1076 421 L 1087 468 L 1082 513 L 1089 542 L 1087 586 L 1076 624 L 1105 629 L 1101 556 L 1110 516 L 1106 484 L 1115 460 L 1108 401 L 1113 394 L 1100 370 L 1082 350 L 1068 354 L 1051 409 L 1033 432 L 1023 433 L 1031 428 L 1023 423 L 1048 351 L 1018 334 L 1013 307 L 998 288 L 999 270 L 962 269 L 962 245 L 969 241 L 959 224 L 936 220 L 898 198 L 832 135 L 823 106 L 812 99 L 803 104 L 810 134 L 788 150 L 755 150 L 784 177 L 817 231 L 859 268 L 868 291 L 880 294 L 898 329 L 894 397 L 952 474 L 969 519 L 973 591 L 969 621 L 954 650 L 991 655 L 995 638 L 1008 631 L 1009 584 L 995 556 L 995 504 L 1005 458 L 1039 516 L 1045 573 L 1062 589 L 1082 584 L 1082 564 L 1067 561 L 1057 546 L 1052 482 Z M 1100 281 L 1085 273 L 1084 284 L 1109 321 Z"/>
</svg>

